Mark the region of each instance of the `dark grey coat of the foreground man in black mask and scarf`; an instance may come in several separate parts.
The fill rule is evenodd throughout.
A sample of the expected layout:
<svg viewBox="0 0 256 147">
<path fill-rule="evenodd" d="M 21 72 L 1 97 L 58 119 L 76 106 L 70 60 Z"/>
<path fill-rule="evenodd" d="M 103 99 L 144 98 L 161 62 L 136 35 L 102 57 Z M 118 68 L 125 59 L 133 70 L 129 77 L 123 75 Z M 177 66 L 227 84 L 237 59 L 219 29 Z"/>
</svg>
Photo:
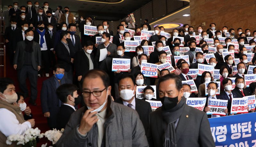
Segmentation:
<svg viewBox="0 0 256 147">
<path fill-rule="evenodd" d="M 149 123 L 149 147 L 163 146 L 164 120 L 161 108 L 150 113 Z M 177 147 L 215 146 L 210 130 L 210 124 L 205 112 L 199 111 L 185 104 L 185 108 L 180 116 L 178 126 L 176 128 L 176 143 Z"/>
</svg>

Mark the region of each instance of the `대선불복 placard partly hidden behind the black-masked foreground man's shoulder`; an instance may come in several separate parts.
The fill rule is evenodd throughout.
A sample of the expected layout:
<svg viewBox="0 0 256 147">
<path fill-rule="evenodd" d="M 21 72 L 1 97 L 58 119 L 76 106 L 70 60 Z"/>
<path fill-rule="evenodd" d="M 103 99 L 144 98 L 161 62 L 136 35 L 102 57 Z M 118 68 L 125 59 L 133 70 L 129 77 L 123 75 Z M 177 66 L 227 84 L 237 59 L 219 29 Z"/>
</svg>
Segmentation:
<svg viewBox="0 0 256 147">
<path fill-rule="evenodd" d="M 188 97 L 186 100 L 186 104 L 194 107 L 200 111 L 204 110 L 204 106 L 206 103 L 206 97 Z"/>
</svg>

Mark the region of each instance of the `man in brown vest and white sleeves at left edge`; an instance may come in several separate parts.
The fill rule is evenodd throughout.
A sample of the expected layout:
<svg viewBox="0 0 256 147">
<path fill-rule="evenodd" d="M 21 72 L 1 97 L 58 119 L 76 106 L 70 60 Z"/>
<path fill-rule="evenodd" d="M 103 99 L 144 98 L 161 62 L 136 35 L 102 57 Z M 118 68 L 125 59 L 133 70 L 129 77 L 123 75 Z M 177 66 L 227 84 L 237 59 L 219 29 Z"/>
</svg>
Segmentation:
<svg viewBox="0 0 256 147">
<path fill-rule="evenodd" d="M 15 92 L 13 81 L 9 78 L 0 78 L 0 146 L 7 146 L 6 139 L 9 135 L 25 135 L 26 130 L 35 126 L 35 119 L 25 121 L 16 103 L 18 96 Z M 12 143 L 12 146 L 16 143 Z"/>
</svg>

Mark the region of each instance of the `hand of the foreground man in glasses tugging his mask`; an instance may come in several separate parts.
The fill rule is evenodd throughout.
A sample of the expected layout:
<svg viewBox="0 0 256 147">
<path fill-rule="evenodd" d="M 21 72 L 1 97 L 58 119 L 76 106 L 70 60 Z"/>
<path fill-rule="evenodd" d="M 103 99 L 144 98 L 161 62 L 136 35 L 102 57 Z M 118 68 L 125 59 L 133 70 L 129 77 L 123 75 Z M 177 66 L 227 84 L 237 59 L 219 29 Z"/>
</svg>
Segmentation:
<svg viewBox="0 0 256 147">
<path fill-rule="evenodd" d="M 88 133 L 91 129 L 92 126 L 99 120 L 97 118 L 97 116 L 95 114 L 97 114 L 97 112 L 92 112 L 93 109 L 89 109 L 87 111 L 85 111 L 84 116 L 80 122 L 80 126 L 78 128 L 78 131 L 81 134 L 86 134 Z"/>
</svg>

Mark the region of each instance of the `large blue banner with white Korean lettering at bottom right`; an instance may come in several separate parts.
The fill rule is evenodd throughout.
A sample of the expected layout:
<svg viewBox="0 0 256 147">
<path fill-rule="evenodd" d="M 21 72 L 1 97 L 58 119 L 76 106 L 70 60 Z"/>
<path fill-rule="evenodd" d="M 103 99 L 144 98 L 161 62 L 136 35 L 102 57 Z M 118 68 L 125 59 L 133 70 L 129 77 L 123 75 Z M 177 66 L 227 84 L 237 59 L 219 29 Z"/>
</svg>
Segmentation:
<svg viewBox="0 0 256 147">
<path fill-rule="evenodd" d="M 256 112 L 208 120 L 215 146 L 256 147 Z"/>
</svg>

